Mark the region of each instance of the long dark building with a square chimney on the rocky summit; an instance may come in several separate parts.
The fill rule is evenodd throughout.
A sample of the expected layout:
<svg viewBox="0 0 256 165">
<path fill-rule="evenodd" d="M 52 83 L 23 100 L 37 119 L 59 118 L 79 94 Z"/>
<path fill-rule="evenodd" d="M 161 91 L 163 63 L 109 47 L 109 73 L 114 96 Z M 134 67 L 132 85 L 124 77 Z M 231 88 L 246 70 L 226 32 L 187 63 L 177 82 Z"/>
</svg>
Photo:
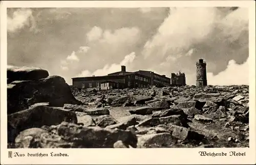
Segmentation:
<svg viewBox="0 0 256 165">
<path fill-rule="evenodd" d="M 113 85 L 110 88 L 147 88 L 150 86 L 168 87 L 173 86 L 172 81 L 165 75 L 160 75 L 152 71 L 139 70 L 136 72 L 126 72 L 126 67 L 121 66 L 121 71 L 110 73 L 105 76 L 74 77 L 72 86 L 76 88 L 86 88 L 88 90 L 109 89 L 104 87 L 104 82 L 110 82 Z M 115 82 L 115 83 L 114 83 Z"/>
</svg>

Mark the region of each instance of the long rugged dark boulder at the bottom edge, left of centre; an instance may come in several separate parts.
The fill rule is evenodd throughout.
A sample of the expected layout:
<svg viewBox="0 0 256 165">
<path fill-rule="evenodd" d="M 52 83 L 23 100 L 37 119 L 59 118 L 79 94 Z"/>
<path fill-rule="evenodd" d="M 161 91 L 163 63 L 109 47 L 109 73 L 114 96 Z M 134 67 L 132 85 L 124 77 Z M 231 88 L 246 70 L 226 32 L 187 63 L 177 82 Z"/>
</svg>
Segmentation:
<svg viewBox="0 0 256 165">
<path fill-rule="evenodd" d="M 137 147 L 136 135 L 117 128 L 80 128 L 76 124 L 63 122 L 57 126 L 57 133 L 65 140 L 75 141 L 82 148 L 113 148 L 117 141 L 133 148 Z"/>
</svg>

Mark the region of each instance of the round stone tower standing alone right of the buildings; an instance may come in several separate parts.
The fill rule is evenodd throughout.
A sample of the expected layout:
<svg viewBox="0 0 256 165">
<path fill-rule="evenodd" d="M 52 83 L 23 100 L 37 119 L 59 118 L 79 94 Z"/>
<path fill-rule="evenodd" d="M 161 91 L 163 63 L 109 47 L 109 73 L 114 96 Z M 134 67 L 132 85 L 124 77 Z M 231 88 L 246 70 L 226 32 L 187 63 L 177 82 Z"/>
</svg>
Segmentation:
<svg viewBox="0 0 256 165">
<path fill-rule="evenodd" d="M 197 87 L 207 86 L 206 62 L 200 59 L 197 62 Z"/>
</svg>

